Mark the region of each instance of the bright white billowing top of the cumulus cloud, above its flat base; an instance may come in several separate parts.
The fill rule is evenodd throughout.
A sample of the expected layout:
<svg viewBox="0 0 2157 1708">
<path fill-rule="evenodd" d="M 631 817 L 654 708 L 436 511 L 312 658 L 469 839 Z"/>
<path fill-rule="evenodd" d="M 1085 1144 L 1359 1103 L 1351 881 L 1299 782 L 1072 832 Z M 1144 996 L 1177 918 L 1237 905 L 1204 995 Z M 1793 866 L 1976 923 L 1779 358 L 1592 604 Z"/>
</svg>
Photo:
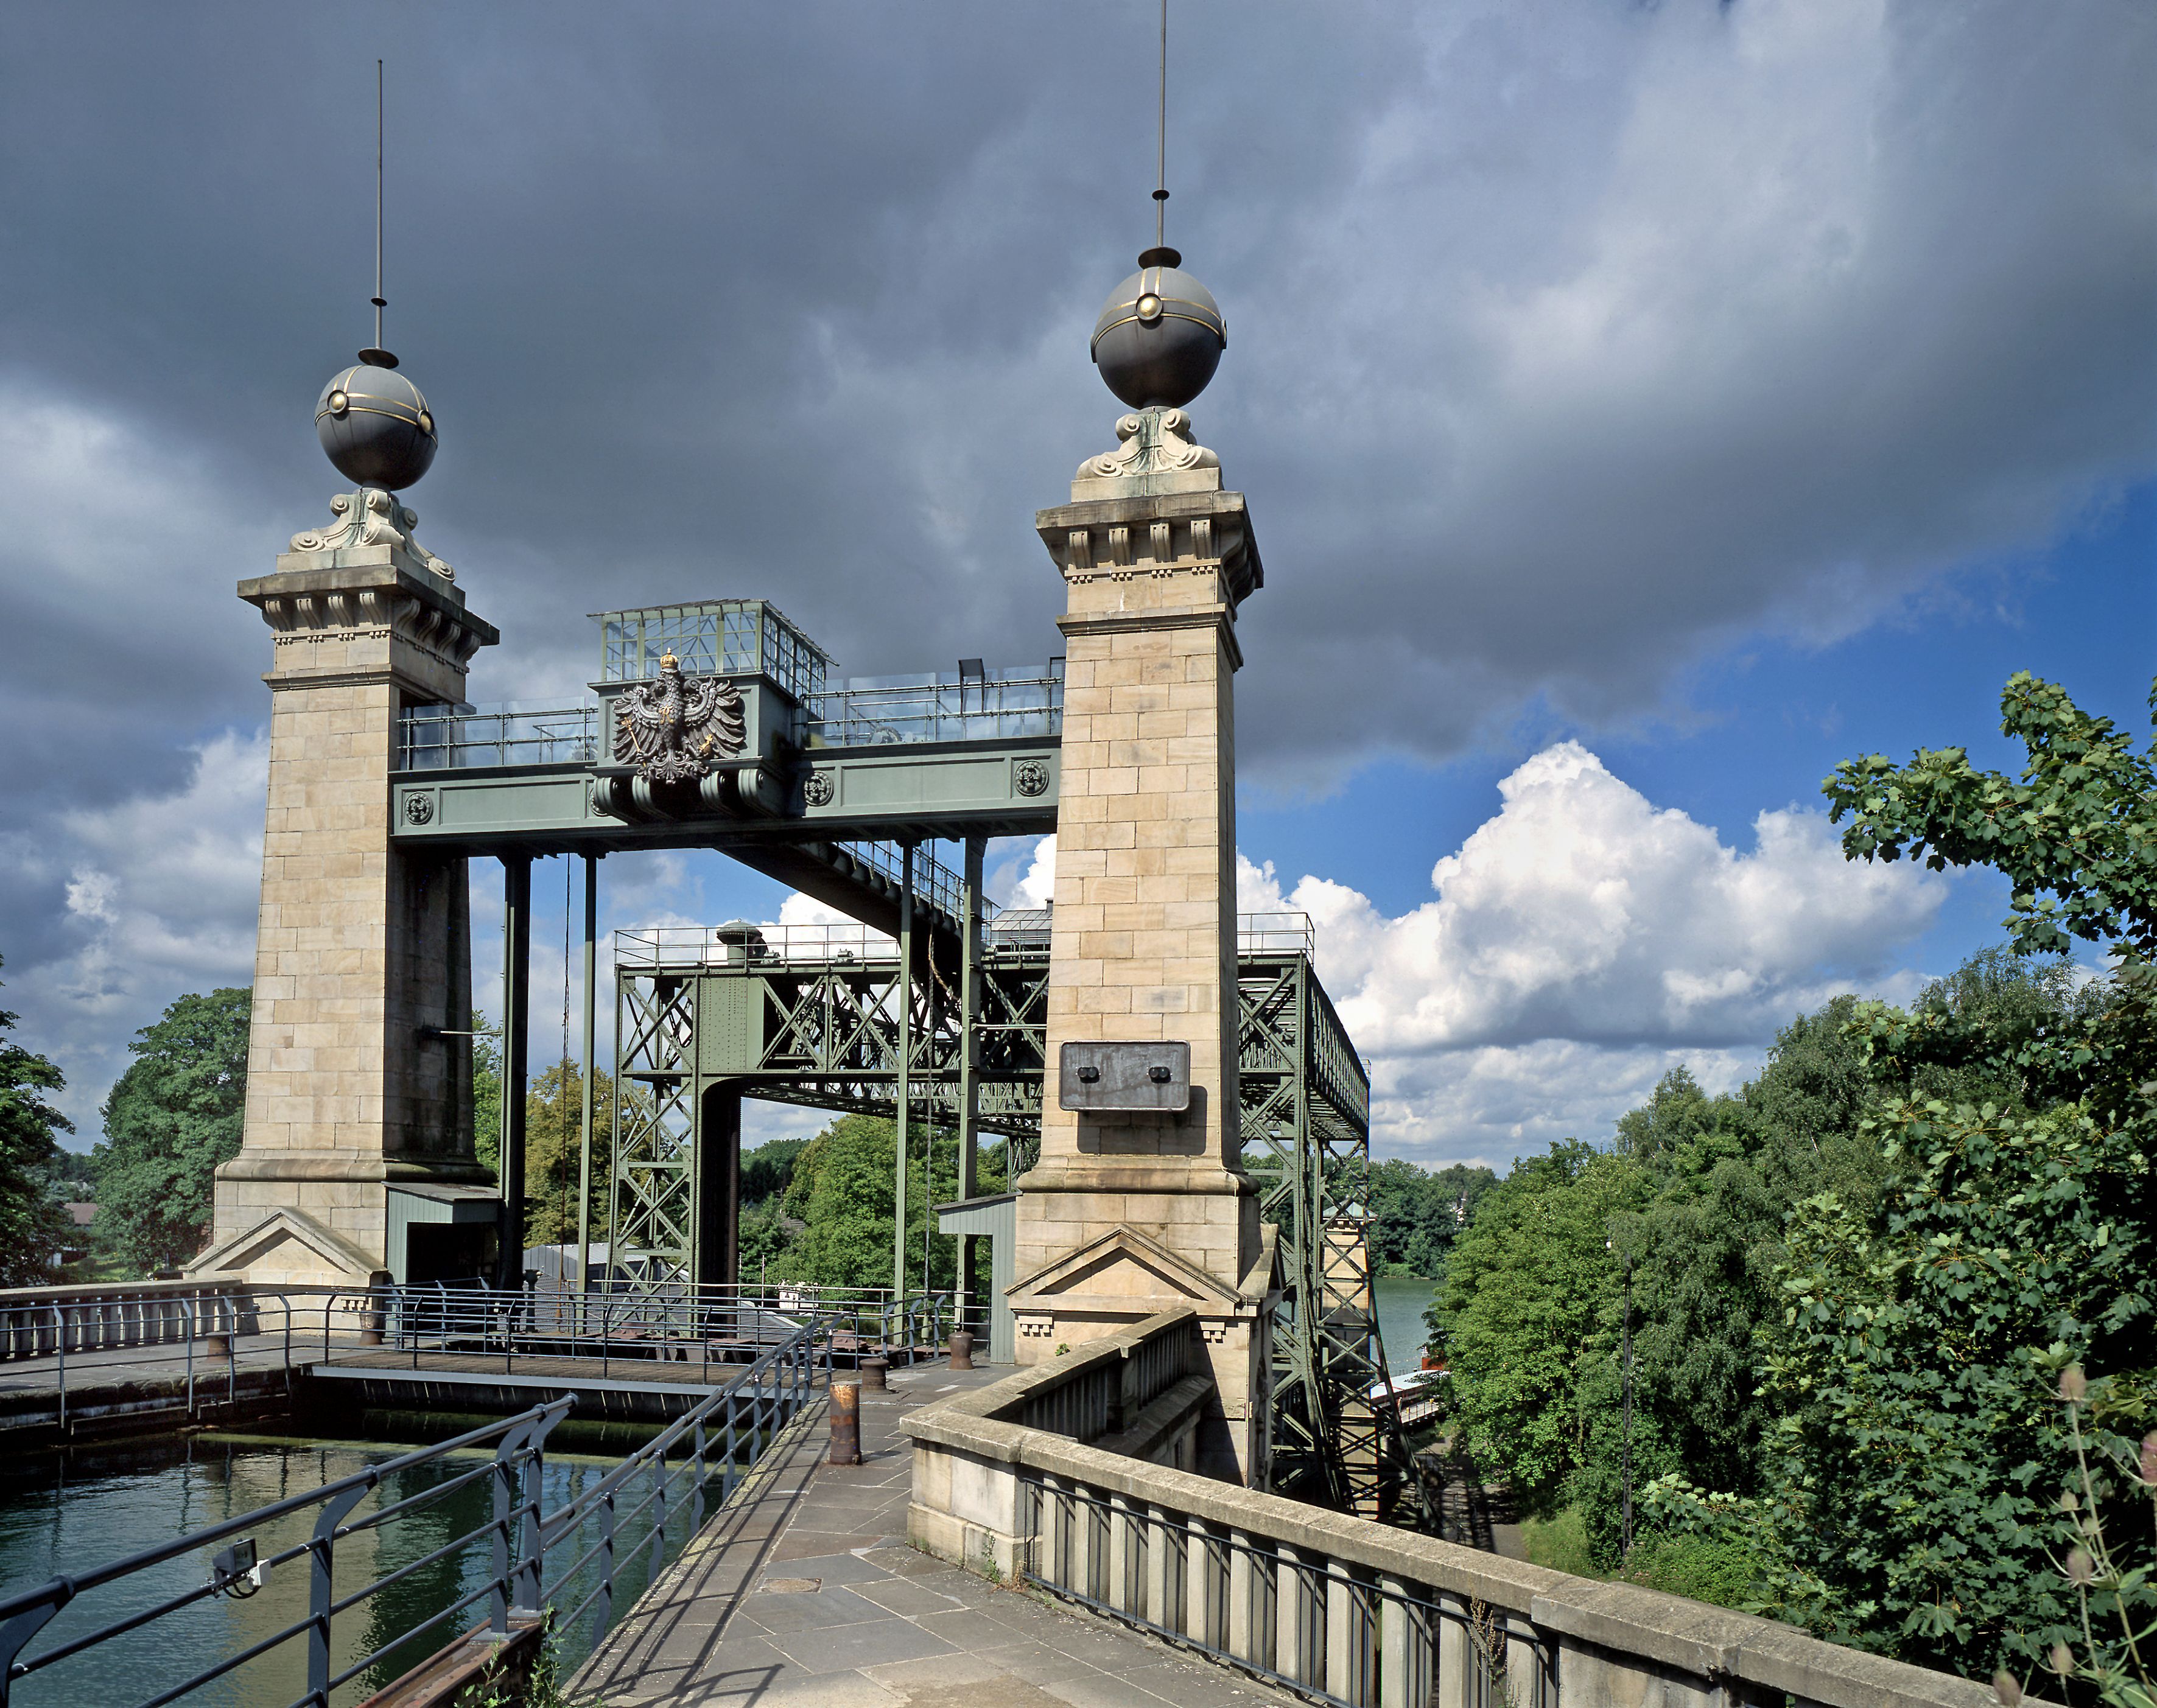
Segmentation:
<svg viewBox="0 0 2157 1708">
<path fill-rule="evenodd" d="M 1946 899 L 1935 873 L 1846 863 L 1823 813 L 1760 813 L 1739 852 L 1577 742 L 1523 763 L 1499 798 L 1432 867 L 1437 897 L 1400 919 L 1324 878 L 1283 895 L 1245 865 L 1247 906 L 1318 923 L 1320 970 L 1363 1048 L 1754 1044 L 1851 977 L 1881 977 Z"/>
</svg>

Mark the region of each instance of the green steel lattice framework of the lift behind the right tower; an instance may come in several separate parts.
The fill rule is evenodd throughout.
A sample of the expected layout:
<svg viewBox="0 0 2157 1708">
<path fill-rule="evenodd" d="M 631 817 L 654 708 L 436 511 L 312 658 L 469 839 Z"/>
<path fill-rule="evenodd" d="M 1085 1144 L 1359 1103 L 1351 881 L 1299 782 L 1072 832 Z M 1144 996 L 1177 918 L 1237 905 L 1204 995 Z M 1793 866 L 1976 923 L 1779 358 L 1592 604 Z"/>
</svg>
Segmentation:
<svg viewBox="0 0 2157 1708">
<path fill-rule="evenodd" d="M 949 968 L 910 981 L 910 1119 L 960 1124 L 971 1031 L 977 1128 L 1040 1145 L 1048 949 L 994 947 L 966 1027 Z M 1279 1227 L 1283 1305 L 1273 1333 L 1270 1486 L 1346 1512 L 1421 1525 L 1424 1501 L 1391 1404 L 1370 1285 L 1370 1080 L 1303 951 L 1240 960 L 1242 1167 Z M 833 955 L 621 968 L 615 1238 L 649 1253 L 651 1285 L 697 1279 L 703 1089 L 766 1102 L 897 1113 L 899 964 Z"/>
</svg>

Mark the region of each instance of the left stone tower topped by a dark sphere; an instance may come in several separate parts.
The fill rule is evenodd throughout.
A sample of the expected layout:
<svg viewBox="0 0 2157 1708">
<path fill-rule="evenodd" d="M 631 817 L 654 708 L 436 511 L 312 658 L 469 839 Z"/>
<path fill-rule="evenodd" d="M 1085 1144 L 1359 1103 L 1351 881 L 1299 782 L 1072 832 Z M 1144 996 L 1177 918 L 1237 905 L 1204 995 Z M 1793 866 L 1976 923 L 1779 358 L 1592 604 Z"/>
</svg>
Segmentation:
<svg viewBox="0 0 2157 1708">
<path fill-rule="evenodd" d="M 494 1197 L 472 1158 L 470 1044 L 440 1037 L 472 1014 L 464 860 L 399 852 L 388 815 L 399 714 L 462 701 L 498 636 L 395 494 L 434 457 L 434 416 L 395 360 L 362 352 L 317 405 L 358 490 L 274 576 L 239 582 L 274 632 L 270 807 L 246 1134 L 192 1275 L 367 1281 L 401 1268 L 397 1193 L 429 1199 L 412 1216 L 427 1225 L 453 1221 L 444 1197 Z"/>
</svg>

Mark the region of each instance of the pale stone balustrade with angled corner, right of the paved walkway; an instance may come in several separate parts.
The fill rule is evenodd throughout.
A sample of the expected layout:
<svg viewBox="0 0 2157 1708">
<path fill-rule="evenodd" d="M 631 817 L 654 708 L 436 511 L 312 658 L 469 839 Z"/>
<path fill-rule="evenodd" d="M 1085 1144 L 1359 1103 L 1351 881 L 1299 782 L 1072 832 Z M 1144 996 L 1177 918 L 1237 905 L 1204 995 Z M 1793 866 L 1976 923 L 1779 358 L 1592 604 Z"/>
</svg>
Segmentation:
<svg viewBox="0 0 2157 1708">
<path fill-rule="evenodd" d="M 1342 1708 L 1984 1708 L 1991 1686 L 1178 1469 L 1191 1311 L 910 1415 L 917 1546 Z"/>
</svg>

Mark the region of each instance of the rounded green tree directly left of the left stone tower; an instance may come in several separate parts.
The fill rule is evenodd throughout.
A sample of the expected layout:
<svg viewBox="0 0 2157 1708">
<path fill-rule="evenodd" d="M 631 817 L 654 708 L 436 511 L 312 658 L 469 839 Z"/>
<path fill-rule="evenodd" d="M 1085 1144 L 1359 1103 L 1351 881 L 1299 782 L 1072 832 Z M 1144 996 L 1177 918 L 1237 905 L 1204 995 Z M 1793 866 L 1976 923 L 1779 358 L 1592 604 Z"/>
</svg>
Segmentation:
<svg viewBox="0 0 2157 1708">
<path fill-rule="evenodd" d="M 209 1236 L 220 1162 L 239 1154 L 248 1098 L 244 988 L 181 996 L 127 1046 L 106 1096 L 97 1238 L 140 1275 L 175 1268 Z"/>
</svg>

